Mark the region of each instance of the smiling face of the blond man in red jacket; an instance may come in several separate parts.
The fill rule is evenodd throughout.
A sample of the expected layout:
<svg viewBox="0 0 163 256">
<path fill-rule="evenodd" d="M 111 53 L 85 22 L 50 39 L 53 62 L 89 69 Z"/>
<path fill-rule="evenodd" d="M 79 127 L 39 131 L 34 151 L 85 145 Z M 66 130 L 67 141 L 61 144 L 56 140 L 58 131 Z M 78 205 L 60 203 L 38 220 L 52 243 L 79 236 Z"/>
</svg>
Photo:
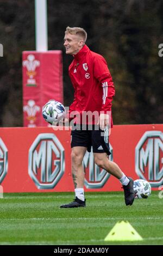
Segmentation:
<svg viewBox="0 0 163 256">
<path fill-rule="evenodd" d="M 65 34 L 64 46 L 66 54 L 77 54 L 83 47 L 84 41 L 78 35 Z"/>
</svg>

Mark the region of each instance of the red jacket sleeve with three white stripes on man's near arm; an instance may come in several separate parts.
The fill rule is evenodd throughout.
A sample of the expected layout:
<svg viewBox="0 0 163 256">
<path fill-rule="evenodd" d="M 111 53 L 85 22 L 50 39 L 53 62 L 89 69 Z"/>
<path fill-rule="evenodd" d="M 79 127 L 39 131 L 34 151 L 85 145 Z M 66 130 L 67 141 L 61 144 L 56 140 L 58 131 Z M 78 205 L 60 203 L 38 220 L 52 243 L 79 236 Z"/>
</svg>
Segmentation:
<svg viewBox="0 0 163 256">
<path fill-rule="evenodd" d="M 103 104 L 101 111 L 111 111 L 111 102 L 115 95 L 115 87 L 106 60 L 100 55 L 96 56 L 94 61 L 94 76 L 103 87 Z"/>
</svg>

